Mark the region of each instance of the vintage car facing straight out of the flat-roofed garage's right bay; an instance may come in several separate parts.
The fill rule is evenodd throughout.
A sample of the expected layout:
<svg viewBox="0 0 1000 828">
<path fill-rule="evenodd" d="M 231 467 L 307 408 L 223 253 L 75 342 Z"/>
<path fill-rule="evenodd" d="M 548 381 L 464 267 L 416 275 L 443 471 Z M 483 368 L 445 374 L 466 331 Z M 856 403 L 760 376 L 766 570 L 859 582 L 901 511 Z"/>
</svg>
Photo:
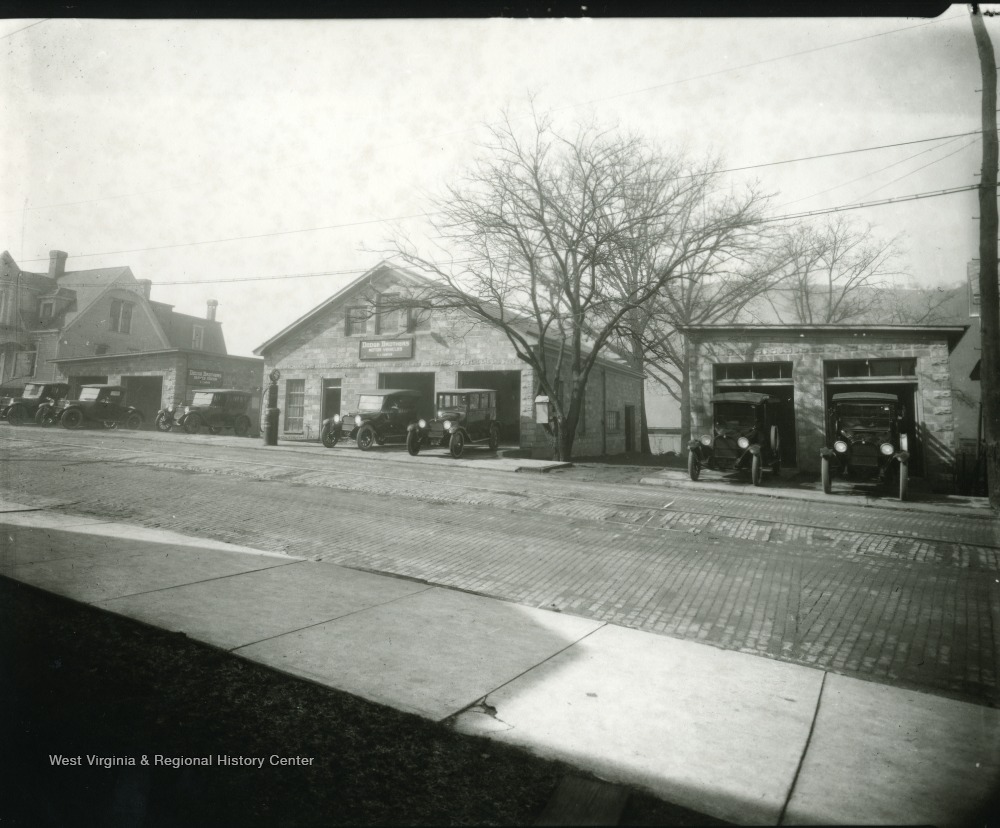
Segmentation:
<svg viewBox="0 0 1000 828">
<path fill-rule="evenodd" d="M 906 499 L 909 484 L 909 441 L 900 432 L 903 406 L 895 394 L 850 391 L 834 394 L 827 411 L 829 444 L 820 450 L 823 491 L 832 489 L 832 475 L 875 479 L 899 484 Z"/>
</svg>

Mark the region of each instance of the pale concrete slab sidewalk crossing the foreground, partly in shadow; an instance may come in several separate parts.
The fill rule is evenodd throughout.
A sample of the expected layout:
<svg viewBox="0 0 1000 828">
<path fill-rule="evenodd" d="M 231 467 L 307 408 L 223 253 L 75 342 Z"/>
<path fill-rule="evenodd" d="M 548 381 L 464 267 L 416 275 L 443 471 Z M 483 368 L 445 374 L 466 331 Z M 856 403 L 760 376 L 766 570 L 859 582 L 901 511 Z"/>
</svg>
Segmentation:
<svg viewBox="0 0 1000 828">
<path fill-rule="evenodd" d="M 426 583 L 0 502 L 0 574 L 747 824 L 962 825 L 1000 711 Z"/>
</svg>

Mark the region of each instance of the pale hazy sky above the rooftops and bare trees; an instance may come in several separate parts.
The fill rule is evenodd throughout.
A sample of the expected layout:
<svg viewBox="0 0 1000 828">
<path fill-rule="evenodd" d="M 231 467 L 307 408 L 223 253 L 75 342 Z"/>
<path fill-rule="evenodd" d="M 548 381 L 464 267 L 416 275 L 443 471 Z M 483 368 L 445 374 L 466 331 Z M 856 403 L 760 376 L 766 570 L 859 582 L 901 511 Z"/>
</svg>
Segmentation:
<svg viewBox="0 0 1000 828">
<path fill-rule="evenodd" d="M 1000 18 L 986 18 L 1000 51 Z M 127 265 L 219 302 L 253 349 L 419 234 L 529 101 L 717 156 L 774 216 L 978 182 L 968 7 L 937 18 L 0 20 L 0 249 Z M 927 141 L 925 139 L 935 139 Z M 886 147 L 903 144 L 905 146 Z M 883 149 L 870 149 L 885 147 Z M 861 152 L 848 152 L 865 150 Z M 803 161 L 808 156 L 847 153 Z M 791 162 L 791 163 L 774 163 Z M 767 165 L 767 166 L 759 166 Z M 975 191 L 843 213 L 897 239 L 907 286 L 978 256 Z M 820 216 L 815 221 L 823 221 Z"/>
</svg>

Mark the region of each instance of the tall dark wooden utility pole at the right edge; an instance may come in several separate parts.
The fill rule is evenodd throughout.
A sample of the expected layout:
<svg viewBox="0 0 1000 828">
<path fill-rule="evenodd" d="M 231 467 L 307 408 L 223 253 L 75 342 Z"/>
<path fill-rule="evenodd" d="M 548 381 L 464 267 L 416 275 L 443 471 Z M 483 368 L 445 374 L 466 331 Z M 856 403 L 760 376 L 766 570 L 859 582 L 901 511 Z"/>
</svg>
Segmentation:
<svg viewBox="0 0 1000 828">
<path fill-rule="evenodd" d="M 979 297 L 982 328 L 980 391 L 990 505 L 1000 510 L 1000 283 L 997 280 L 997 64 L 978 5 L 972 33 L 983 74 L 983 170 L 979 183 Z"/>
</svg>

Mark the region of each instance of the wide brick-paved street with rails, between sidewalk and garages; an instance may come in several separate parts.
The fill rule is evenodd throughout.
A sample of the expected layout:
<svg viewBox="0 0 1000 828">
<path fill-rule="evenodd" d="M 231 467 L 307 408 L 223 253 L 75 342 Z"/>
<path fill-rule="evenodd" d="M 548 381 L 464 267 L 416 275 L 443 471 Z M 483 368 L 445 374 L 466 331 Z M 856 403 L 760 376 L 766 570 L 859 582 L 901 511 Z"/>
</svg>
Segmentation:
<svg viewBox="0 0 1000 828">
<path fill-rule="evenodd" d="M 259 446 L 4 425 L 0 494 L 1000 702 L 995 520 Z"/>
</svg>

